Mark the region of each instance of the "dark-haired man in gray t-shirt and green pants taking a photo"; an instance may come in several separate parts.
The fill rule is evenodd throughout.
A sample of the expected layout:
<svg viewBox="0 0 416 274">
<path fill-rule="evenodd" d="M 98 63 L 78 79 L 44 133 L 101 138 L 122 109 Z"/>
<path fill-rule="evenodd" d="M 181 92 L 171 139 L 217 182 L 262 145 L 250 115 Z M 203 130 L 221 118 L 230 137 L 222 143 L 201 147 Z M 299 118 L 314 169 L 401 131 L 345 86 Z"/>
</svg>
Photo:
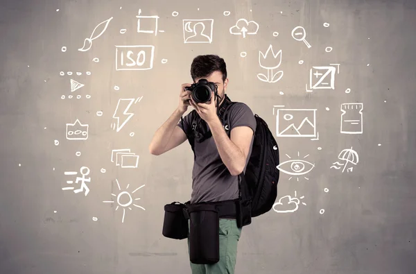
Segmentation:
<svg viewBox="0 0 416 274">
<path fill-rule="evenodd" d="M 191 113 L 177 121 L 187 111 L 189 105 L 207 123 L 212 136 L 199 143 L 195 142 L 196 158 L 192 171 L 191 204 L 218 202 L 239 198 L 239 174 L 245 172 L 254 140 L 257 122 L 253 112 L 244 103 L 235 103 L 229 113 L 230 137 L 218 117 L 218 108 L 224 103 L 227 91 L 227 69 L 223 58 L 218 55 L 199 55 L 191 64 L 193 83 L 201 78 L 213 82 L 218 87 L 218 96 L 213 92 L 211 101 L 195 103 L 191 92 L 183 84 L 180 89 L 179 105 L 171 117 L 155 132 L 149 151 L 161 155 L 179 146 L 189 132 L 193 117 Z M 219 99 L 218 99 L 219 98 Z M 192 264 L 193 274 L 234 273 L 237 243 L 241 228 L 236 219 L 220 219 L 220 260 L 216 264 Z M 188 239 L 189 243 L 189 239 Z"/>
</svg>

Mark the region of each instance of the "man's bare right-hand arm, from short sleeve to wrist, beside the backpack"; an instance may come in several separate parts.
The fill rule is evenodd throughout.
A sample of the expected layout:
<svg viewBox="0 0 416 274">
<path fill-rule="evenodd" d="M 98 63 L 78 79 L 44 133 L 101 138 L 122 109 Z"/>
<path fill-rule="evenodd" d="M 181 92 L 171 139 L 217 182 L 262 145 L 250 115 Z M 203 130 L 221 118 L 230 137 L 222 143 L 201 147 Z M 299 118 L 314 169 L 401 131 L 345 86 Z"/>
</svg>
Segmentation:
<svg viewBox="0 0 416 274">
<path fill-rule="evenodd" d="M 229 173 L 233 176 L 239 175 L 244 170 L 248 151 L 250 150 L 253 130 L 248 126 L 233 128 L 230 137 L 234 140 L 235 144 L 227 136 L 218 117 L 211 121 L 208 126 L 211 129 L 221 160 L 227 166 Z"/>
</svg>

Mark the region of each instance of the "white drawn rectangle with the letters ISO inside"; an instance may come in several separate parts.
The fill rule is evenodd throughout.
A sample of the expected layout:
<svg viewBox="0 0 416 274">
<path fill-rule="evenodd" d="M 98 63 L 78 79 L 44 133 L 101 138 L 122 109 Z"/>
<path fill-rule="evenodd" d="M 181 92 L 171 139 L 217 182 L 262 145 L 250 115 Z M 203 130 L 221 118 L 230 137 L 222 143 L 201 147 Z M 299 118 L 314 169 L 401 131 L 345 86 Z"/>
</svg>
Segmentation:
<svg viewBox="0 0 416 274">
<path fill-rule="evenodd" d="M 116 70 L 152 69 L 154 55 L 152 45 L 116 46 Z"/>
</svg>

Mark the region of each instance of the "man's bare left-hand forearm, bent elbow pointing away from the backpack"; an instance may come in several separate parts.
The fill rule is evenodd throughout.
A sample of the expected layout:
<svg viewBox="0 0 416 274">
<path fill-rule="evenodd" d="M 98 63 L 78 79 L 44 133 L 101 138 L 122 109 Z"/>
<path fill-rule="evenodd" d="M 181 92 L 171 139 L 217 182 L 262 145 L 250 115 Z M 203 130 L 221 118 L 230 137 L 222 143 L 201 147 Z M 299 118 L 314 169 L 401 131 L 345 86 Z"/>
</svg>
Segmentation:
<svg viewBox="0 0 416 274">
<path fill-rule="evenodd" d="M 179 146 L 187 139 L 184 131 L 177 126 L 177 121 L 182 117 L 184 112 L 176 109 L 153 135 L 152 142 L 149 145 L 149 152 L 153 155 L 161 155 L 166 151 Z"/>
</svg>

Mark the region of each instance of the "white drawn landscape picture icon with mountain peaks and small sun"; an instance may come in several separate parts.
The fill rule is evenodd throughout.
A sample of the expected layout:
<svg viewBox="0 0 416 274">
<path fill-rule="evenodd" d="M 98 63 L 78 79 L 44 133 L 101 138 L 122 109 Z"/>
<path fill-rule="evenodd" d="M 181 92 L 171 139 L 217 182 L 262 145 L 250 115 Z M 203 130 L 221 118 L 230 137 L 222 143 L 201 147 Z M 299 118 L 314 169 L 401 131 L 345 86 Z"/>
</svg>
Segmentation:
<svg viewBox="0 0 416 274">
<path fill-rule="evenodd" d="M 277 137 L 311 137 L 319 139 L 316 130 L 316 109 L 286 109 L 278 107 L 276 115 Z M 273 114 L 275 110 L 273 108 Z"/>
</svg>

